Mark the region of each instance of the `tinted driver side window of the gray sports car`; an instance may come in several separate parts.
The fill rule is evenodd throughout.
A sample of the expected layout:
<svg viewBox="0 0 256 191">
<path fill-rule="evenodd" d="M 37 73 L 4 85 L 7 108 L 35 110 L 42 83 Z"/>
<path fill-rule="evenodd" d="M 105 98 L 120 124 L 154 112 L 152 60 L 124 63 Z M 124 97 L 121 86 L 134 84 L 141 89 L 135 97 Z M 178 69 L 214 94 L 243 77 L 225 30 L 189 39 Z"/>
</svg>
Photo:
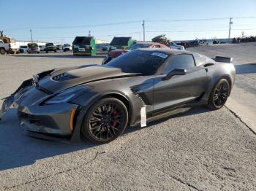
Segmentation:
<svg viewBox="0 0 256 191">
<path fill-rule="evenodd" d="M 173 71 L 173 69 L 190 69 L 192 67 L 195 67 L 195 61 L 192 55 L 173 55 L 170 61 L 168 61 L 167 66 L 165 66 L 162 74 L 168 74 L 170 71 Z"/>
</svg>

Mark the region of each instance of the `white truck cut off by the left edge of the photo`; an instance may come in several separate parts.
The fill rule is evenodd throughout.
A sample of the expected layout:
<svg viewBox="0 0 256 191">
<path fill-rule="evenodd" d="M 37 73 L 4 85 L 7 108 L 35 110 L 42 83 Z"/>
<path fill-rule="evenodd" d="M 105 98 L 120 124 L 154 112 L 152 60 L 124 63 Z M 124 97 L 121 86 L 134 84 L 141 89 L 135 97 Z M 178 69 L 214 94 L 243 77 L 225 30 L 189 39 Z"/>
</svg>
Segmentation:
<svg viewBox="0 0 256 191">
<path fill-rule="evenodd" d="M 18 53 L 19 46 L 16 44 L 15 39 L 7 36 L 0 36 L 0 54 L 15 54 Z"/>
</svg>

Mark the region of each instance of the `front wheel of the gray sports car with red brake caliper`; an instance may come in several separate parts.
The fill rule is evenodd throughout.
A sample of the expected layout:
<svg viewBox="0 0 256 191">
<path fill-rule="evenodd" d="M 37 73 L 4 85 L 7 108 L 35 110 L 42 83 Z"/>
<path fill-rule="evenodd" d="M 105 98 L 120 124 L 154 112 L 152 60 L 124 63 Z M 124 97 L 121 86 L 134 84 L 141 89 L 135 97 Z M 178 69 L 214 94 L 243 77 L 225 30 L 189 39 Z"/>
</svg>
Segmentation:
<svg viewBox="0 0 256 191">
<path fill-rule="evenodd" d="M 127 128 L 127 107 L 116 98 L 102 98 L 88 111 L 81 132 L 90 141 L 108 143 L 120 136 Z"/>
</svg>

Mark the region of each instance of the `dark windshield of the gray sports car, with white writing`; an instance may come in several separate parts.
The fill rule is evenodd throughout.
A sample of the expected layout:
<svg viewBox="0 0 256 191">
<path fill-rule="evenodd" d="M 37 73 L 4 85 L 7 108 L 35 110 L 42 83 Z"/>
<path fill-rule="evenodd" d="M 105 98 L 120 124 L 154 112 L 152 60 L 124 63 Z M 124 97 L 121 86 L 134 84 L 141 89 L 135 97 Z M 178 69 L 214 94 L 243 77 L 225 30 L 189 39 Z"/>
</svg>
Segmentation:
<svg viewBox="0 0 256 191">
<path fill-rule="evenodd" d="M 168 55 L 162 52 L 132 50 L 113 59 L 105 66 L 116 67 L 126 73 L 141 73 L 145 76 L 156 73 Z"/>
</svg>

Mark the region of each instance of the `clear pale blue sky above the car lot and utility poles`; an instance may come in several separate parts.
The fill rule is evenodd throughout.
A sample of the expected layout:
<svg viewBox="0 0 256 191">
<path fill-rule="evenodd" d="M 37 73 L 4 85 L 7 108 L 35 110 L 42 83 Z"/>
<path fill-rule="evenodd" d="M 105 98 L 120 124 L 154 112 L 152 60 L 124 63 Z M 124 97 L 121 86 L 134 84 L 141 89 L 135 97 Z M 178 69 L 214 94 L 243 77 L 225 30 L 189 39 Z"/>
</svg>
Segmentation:
<svg viewBox="0 0 256 191">
<path fill-rule="evenodd" d="M 166 34 L 178 40 L 256 36 L 256 0 L 0 0 L 0 31 L 18 40 L 72 42 L 75 36 L 111 40 Z"/>
</svg>

